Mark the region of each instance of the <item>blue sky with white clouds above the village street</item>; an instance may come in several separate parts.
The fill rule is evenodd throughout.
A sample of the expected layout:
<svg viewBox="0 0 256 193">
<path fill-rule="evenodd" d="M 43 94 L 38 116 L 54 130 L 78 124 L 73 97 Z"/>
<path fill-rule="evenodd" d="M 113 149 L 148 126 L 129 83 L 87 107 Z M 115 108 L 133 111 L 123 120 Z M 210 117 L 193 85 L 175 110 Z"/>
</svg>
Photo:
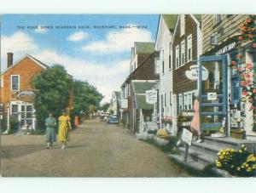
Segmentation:
<svg viewBox="0 0 256 193">
<path fill-rule="evenodd" d="M 3 14 L 1 71 L 8 52 L 14 62 L 30 54 L 65 66 L 109 102 L 129 75 L 133 43 L 155 42 L 158 20 L 158 14 Z"/>
</svg>

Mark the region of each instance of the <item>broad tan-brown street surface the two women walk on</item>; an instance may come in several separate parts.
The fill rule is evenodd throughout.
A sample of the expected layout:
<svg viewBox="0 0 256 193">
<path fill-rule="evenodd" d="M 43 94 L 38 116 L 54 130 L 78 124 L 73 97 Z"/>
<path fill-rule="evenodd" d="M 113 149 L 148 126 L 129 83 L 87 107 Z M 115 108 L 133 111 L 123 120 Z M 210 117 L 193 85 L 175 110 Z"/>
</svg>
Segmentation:
<svg viewBox="0 0 256 193">
<path fill-rule="evenodd" d="M 164 152 L 136 139 L 128 129 L 84 122 L 68 148 L 45 149 L 43 135 L 2 136 L 3 176 L 186 177 Z"/>
</svg>

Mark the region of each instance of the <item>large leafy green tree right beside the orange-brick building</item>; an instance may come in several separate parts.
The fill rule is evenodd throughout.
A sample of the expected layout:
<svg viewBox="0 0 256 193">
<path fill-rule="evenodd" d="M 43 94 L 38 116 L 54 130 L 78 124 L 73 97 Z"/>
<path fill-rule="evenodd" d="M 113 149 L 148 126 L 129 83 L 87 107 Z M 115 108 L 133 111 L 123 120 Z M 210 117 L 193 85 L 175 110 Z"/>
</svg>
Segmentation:
<svg viewBox="0 0 256 193">
<path fill-rule="evenodd" d="M 49 112 L 58 117 L 68 107 L 71 83 L 62 65 L 53 65 L 33 78 L 32 86 L 38 90 L 34 106 L 39 128 L 44 128 L 44 120 Z"/>
</svg>

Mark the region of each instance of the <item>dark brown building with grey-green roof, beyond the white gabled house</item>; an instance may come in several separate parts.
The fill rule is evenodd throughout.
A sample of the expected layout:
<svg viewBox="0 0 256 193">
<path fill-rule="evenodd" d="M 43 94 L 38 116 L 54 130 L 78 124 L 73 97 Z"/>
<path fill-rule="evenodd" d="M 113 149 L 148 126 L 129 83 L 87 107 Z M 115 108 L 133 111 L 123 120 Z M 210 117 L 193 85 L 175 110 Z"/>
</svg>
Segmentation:
<svg viewBox="0 0 256 193">
<path fill-rule="evenodd" d="M 133 132 L 137 132 L 134 126 L 134 96 L 131 95 L 132 80 L 158 80 L 159 71 L 155 66 L 154 43 L 134 43 L 131 48 L 130 74 L 121 85 L 120 92 L 120 118 Z"/>
</svg>

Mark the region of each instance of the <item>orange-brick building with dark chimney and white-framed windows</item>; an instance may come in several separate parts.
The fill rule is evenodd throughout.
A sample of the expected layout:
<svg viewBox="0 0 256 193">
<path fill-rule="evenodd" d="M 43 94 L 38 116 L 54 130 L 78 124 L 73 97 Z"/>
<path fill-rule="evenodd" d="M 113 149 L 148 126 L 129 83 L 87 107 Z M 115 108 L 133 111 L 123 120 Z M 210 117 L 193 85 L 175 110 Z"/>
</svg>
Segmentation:
<svg viewBox="0 0 256 193">
<path fill-rule="evenodd" d="M 17 94 L 32 94 L 32 78 L 41 71 L 45 71 L 49 66 L 29 54 L 24 55 L 15 63 L 13 63 L 13 54 L 8 53 L 7 55 L 7 68 L 1 73 L 3 118 L 15 116 L 20 122 L 20 128 L 35 129 L 36 117 L 32 100 L 21 100 Z M 72 90 L 69 109 L 73 109 Z"/>
</svg>

